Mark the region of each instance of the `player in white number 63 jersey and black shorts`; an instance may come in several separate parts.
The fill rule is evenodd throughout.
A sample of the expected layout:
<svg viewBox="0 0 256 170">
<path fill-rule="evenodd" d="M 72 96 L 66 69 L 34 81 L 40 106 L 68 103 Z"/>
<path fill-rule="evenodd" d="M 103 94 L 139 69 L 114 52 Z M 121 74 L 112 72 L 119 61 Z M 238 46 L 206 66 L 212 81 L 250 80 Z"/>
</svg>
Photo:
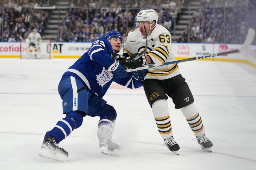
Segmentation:
<svg viewBox="0 0 256 170">
<path fill-rule="evenodd" d="M 166 28 L 157 24 L 156 11 L 153 9 L 142 10 L 138 13 L 136 20 L 138 27 L 128 33 L 125 42 L 125 51 L 129 55 L 126 58 L 127 68 L 135 69 L 143 65 L 159 66 L 165 62 L 174 61 L 171 34 Z M 146 34 L 148 36 L 147 52 L 131 62 L 131 59 L 139 54 L 138 52 L 144 50 Z M 126 56 L 128 56 L 127 54 Z M 201 148 L 212 152 L 213 144 L 205 136 L 204 125 L 194 104 L 193 95 L 185 78 L 181 76 L 177 63 L 148 69 L 143 87 L 158 131 L 169 150 L 179 155 L 180 146 L 173 138 L 166 94 L 172 98 L 175 108 L 180 109 L 185 116 Z"/>
</svg>

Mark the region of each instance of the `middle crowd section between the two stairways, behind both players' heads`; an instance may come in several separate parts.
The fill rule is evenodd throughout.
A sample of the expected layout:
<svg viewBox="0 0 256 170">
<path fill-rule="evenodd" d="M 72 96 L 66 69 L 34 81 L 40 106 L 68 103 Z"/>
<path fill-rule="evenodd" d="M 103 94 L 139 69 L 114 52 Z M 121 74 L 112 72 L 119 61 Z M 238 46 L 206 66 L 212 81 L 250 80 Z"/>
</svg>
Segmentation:
<svg viewBox="0 0 256 170">
<path fill-rule="evenodd" d="M 171 31 L 179 20 L 183 3 L 184 0 L 71 0 L 60 22 L 57 41 L 92 42 L 109 30 L 118 31 L 126 38 L 142 9 L 155 9 L 158 24 Z M 84 9 L 75 8 L 81 6 Z"/>
</svg>

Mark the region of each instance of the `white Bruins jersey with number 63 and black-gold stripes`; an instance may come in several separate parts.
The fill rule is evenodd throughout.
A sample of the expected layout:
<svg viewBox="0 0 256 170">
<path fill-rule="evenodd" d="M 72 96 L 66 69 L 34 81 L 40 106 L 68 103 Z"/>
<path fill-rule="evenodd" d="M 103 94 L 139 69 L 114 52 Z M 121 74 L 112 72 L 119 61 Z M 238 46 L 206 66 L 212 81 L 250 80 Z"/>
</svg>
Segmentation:
<svg viewBox="0 0 256 170">
<path fill-rule="evenodd" d="M 170 32 L 161 25 L 157 25 L 155 29 L 148 35 L 148 49 L 146 54 L 150 56 L 151 65 L 155 68 L 148 69 L 146 78 L 167 79 L 180 74 L 178 64 L 170 64 L 156 67 L 166 62 L 175 61 L 172 54 L 172 39 Z M 136 52 L 143 51 L 146 45 L 146 37 L 144 37 L 139 28 L 135 28 L 128 33 L 125 41 L 125 51 L 131 55 Z"/>
</svg>

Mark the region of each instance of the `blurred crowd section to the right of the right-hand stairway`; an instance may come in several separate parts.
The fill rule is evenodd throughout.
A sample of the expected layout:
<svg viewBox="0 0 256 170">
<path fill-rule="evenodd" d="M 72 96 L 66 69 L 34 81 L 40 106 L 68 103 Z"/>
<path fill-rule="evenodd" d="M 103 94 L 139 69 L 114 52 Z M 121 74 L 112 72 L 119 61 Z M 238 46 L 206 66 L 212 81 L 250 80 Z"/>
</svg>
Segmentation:
<svg viewBox="0 0 256 170">
<path fill-rule="evenodd" d="M 245 10 L 241 0 L 201 0 L 199 11 L 177 42 L 243 43 Z"/>
</svg>

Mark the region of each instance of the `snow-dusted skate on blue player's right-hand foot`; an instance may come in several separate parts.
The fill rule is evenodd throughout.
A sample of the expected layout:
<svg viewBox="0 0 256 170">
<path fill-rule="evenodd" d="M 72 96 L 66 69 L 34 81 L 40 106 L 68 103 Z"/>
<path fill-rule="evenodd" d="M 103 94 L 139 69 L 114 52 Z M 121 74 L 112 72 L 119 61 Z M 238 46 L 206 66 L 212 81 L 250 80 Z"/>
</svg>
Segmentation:
<svg viewBox="0 0 256 170">
<path fill-rule="evenodd" d="M 110 140 L 104 140 L 100 142 L 100 152 L 104 155 L 119 156 L 120 146 L 119 144 Z"/>
</svg>

